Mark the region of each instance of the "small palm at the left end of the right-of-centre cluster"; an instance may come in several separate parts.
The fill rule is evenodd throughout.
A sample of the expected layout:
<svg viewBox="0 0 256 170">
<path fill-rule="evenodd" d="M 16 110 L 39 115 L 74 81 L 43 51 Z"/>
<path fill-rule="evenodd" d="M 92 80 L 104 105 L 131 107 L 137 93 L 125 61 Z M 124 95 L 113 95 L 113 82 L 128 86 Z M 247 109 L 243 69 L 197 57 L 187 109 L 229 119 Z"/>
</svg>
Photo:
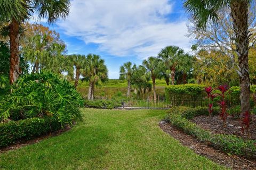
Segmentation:
<svg viewBox="0 0 256 170">
<path fill-rule="evenodd" d="M 133 65 L 134 66 L 134 65 Z M 128 88 L 127 88 L 127 97 L 130 97 L 131 94 L 131 78 L 132 78 L 132 62 L 126 62 L 120 67 L 120 79 L 126 79 Z"/>
</svg>

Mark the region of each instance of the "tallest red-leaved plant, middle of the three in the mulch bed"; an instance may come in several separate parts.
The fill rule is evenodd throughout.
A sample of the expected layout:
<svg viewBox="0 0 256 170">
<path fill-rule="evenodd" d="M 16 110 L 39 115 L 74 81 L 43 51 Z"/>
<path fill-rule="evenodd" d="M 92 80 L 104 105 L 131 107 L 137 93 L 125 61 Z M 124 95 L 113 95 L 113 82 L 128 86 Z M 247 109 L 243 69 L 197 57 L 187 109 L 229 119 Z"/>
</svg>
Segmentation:
<svg viewBox="0 0 256 170">
<path fill-rule="evenodd" d="M 221 96 L 221 100 L 218 103 L 220 105 L 220 108 L 221 108 L 220 117 L 223 121 L 223 126 L 226 127 L 226 120 L 227 120 L 228 114 L 227 114 L 225 96 L 226 96 L 226 93 L 229 90 L 229 86 L 228 85 L 221 85 L 217 89 L 221 92 L 219 94 Z"/>
</svg>

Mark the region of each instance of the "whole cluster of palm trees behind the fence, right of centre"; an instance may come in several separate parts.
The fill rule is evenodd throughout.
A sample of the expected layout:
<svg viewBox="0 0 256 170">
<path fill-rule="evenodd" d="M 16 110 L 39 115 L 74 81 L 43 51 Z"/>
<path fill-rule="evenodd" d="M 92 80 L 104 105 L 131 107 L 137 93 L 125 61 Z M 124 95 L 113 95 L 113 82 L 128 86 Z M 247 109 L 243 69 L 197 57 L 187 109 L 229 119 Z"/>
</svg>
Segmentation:
<svg viewBox="0 0 256 170">
<path fill-rule="evenodd" d="M 146 87 L 148 89 L 148 81 L 151 78 L 153 84 L 154 100 L 156 101 L 156 79 L 164 78 L 166 85 L 169 85 L 171 78 L 172 84 L 176 75 L 181 75 L 182 83 L 186 83 L 187 75 L 191 73 L 193 68 L 194 57 L 186 54 L 183 49 L 178 46 L 167 46 L 163 48 L 157 57 L 149 57 L 143 60 L 142 65 L 138 67 L 131 62 L 124 63 L 120 67 L 120 78 L 126 79 L 128 88 L 127 96 L 130 96 L 131 86 Z M 140 76 L 138 76 L 140 75 Z"/>
</svg>

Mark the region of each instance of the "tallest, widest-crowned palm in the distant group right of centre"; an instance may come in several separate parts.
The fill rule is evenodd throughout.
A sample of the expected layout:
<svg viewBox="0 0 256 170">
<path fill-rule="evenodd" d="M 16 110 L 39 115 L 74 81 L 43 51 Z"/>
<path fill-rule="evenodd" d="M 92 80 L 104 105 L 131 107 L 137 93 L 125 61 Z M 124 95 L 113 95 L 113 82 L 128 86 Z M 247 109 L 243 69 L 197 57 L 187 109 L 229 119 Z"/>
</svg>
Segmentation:
<svg viewBox="0 0 256 170">
<path fill-rule="evenodd" d="M 174 85 L 175 72 L 181 69 L 181 60 L 184 55 L 183 49 L 178 46 L 167 46 L 158 53 L 158 57 L 162 59 L 165 67 L 165 74 L 170 74 L 172 85 Z"/>
</svg>

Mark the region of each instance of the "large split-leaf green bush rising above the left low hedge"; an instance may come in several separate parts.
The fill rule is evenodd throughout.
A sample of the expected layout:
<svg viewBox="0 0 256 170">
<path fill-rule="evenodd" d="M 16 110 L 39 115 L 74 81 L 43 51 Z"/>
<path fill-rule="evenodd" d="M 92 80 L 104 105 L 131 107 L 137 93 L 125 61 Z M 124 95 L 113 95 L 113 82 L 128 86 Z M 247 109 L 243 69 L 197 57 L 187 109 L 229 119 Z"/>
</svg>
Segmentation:
<svg viewBox="0 0 256 170">
<path fill-rule="evenodd" d="M 63 125 L 81 118 L 83 99 L 73 85 L 43 72 L 23 75 L 0 103 L 0 120 L 53 116 Z"/>
</svg>

